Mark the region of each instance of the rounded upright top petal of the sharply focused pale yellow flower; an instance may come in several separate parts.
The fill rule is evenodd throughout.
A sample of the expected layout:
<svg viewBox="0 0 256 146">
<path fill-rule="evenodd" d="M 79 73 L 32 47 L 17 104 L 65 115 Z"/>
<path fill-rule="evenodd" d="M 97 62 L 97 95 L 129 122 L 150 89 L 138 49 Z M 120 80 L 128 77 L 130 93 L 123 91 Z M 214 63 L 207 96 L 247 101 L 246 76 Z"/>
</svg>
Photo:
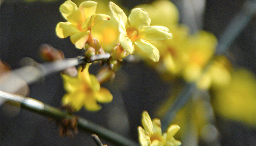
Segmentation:
<svg viewBox="0 0 256 146">
<path fill-rule="evenodd" d="M 149 26 L 151 23 L 151 19 L 149 18 L 148 13 L 142 8 L 132 9 L 128 20 L 130 26 L 139 30 L 144 26 Z"/>
</svg>

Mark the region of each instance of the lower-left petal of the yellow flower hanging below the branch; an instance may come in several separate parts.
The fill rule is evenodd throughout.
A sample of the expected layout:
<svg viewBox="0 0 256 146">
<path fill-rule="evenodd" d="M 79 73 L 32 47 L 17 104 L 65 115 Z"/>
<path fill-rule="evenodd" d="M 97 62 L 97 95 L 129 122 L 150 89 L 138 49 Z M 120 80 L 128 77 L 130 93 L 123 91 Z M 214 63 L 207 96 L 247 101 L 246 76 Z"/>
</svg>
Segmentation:
<svg viewBox="0 0 256 146">
<path fill-rule="evenodd" d="M 85 94 L 82 91 L 72 92 L 72 93 L 66 93 L 62 98 L 62 103 L 64 105 L 71 105 L 75 108 L 76 111 L 79 111 L 83 107 L 83 100 L 84 100 Z"/>
</svg>

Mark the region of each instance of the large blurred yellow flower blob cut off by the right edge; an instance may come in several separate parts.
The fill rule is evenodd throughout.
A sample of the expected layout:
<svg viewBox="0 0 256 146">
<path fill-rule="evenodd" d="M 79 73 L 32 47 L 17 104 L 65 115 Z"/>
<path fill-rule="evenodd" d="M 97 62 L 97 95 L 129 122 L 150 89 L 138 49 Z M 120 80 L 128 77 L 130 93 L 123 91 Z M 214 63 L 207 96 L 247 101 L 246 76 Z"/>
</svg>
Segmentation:
<svg viewBox="0 0 256 146">
<path fill-rule="evenodd" d="M 217 114 L 251 126 L 256 124 L 255 75 L 245 69 L 231 72 L 231 82 L 214 88 L 213 105 Z"/>
</svg>

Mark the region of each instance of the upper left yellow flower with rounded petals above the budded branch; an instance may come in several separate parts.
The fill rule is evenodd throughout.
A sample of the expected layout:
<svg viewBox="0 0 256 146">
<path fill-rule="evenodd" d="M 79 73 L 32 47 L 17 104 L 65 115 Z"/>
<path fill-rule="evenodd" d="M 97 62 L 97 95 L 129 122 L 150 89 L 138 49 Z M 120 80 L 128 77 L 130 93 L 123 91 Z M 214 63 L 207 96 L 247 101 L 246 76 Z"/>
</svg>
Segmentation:
<svg viewBox="0 0 256 146">
<path fill-rule="evenodd" d="M 79 49 L 84 47 L 88 40 L 91 27 L 102 20 L 109 20 L 110 16 L 95 14 L 97 4 L 95 1 L 84 1 L 79 8 L 71 0 L 60 6 L 60 12 L 67 22 L 59 22 L 56 34 L 60 38 L 70 36 L 71 42 Z"/>
</svg>

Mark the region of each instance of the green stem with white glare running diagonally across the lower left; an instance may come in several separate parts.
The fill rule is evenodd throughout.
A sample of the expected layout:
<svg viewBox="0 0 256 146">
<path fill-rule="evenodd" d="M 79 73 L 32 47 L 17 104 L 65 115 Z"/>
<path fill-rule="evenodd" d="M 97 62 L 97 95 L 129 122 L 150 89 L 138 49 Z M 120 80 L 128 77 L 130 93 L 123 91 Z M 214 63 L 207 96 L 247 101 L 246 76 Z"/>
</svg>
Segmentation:
<svg viewBox="0 0 256 146">
<path fill-rule="evenodd" d="M 24 108 L 26 110 L 32 111 L 34 113 L 37 113 L 55 120 L 61 120 L 66 118 L 71 119 L 73 117 L 72 115 L 67 114 L 67 112 L 63 112 L 58 108 L 52 107 L 48 104 L 44 104 L 41 101 L 29 98 L 29 97 L 23 97 L 23 96 L 0 91 L 0 98 L 4 100 L 16 101 L 21 104 L 21 108 Z M 104 127 L 101 127 L 101 126 L 98 126 L 97 124 L 89 122 L 83 118 L 78 119 L 78 128 L 90 133 L 95 133 L 101 136 L 102 138 L 105 138 L 110 142 L 113 142 L 118 146 L 138 146 L 137 143 L 119 134 L 116 134 L 115 132 L 112 132 Z"/>
</svg>

